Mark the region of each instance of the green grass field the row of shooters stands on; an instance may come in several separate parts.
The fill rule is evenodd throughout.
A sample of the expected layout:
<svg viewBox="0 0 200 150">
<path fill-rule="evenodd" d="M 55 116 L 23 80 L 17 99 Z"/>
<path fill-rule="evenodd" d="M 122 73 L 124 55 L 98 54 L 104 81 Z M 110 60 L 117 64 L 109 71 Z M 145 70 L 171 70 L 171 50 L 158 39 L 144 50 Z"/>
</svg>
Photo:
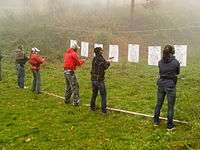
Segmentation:
<svg viewBox="0 0 200 150">
<path fill-rule="evenodd" d="M 82 104 L 91 97 L 90 65 L 78 68 Z M 88 107 L 65 105 L 62 99 L 30 89 L 16 88 L 14 64 L 4 62 L 4 81 L 0 83 L 0 149 L 199 149 L 200 76 L 199 64 L 182 68 L 177 84 L 176 124 L 166 131 L 166 122 L 153 127 L 149 118 L 109 112 L 104 116 Z M 26 85 L 32 75 L 27 65 Z M 156 102 L 157 67 L 145 63 L 114 63 L 106 74 L 108 106 L 152 115 Z M 64 95 L 62 64 L 44 64 L 42 89 Z M 162 116 L 166 117 L 166 102 Z"/>
</svg>

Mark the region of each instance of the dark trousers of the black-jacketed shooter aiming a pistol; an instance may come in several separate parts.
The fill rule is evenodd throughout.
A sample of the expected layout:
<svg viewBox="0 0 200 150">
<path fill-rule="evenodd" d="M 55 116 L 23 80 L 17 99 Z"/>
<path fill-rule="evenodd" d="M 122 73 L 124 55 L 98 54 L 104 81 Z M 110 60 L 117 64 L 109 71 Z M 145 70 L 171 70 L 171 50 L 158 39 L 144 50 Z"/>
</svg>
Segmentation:
<svg viewBox="0 0 200 150">
<path fill-rule="evenodd" d="M 91 110 L 95 110 L 96 97 L 100 91 L 101 95 L 101 109 L 103 113 L 106 113 L 106 87 L 104 81 L 92 81 L 92 98 L 90 101 Z"/>
</svg>

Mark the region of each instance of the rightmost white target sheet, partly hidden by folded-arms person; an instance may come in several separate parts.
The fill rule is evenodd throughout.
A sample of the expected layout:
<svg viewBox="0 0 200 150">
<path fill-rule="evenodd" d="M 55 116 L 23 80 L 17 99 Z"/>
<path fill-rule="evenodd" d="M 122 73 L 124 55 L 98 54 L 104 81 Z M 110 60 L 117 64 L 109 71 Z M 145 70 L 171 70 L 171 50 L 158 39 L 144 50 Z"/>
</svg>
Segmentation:
<svg viewBox="0 0 200 150">
<path fill-rule="evenodd" d="M 174 45 L 175 57 L 181 66 L 187 66 L 187 45 Z"/>
</svg>

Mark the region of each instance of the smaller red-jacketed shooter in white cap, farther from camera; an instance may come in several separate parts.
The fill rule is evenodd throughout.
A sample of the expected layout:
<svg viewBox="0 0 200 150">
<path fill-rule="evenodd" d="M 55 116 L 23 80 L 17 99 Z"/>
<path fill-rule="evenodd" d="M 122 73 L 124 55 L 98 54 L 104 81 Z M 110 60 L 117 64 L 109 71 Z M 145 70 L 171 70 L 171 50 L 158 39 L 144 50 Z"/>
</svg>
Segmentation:
<svg viewBox="0 0 200 150">
<path fill-rule="evenodd" d="M 40 50 L 36 47 L 32 48 L 29 63 L 31 64 L 31 70 L 33 73 L 32 91 L 36 94 L 41 93 L 40 89 L 40 65 L 45 61 L 45 58 L 39 54 Z"/>
</svg>

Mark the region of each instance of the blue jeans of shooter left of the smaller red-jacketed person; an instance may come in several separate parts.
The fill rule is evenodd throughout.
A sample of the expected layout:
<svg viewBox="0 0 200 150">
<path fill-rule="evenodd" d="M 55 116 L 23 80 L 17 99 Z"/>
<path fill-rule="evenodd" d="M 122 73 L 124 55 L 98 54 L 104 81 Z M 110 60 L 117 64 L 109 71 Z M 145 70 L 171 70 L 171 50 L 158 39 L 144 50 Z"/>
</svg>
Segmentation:
<svg viewBox="0 0 200 150">
<path fill-rule="evenodd" d="M 24 88 L 25 69 L 24 65 L 17 64 L 17 84 L 19 88 Z"/>
</svg>

